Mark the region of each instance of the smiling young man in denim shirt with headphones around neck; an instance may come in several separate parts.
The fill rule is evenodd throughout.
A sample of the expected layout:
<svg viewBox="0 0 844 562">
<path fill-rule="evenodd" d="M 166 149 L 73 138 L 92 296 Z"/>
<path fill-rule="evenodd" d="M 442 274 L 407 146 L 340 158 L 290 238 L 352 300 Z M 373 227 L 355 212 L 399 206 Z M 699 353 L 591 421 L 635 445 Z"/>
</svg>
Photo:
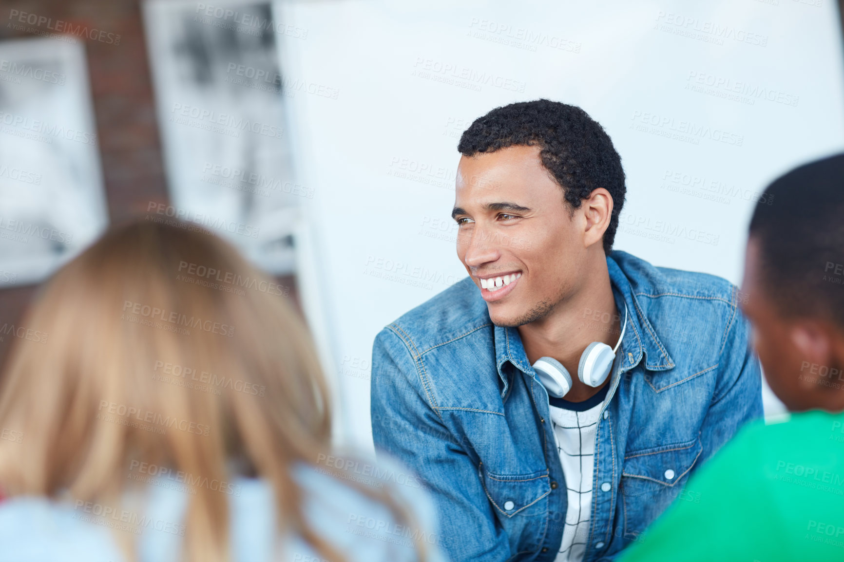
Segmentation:
<svg viewBox="0 0 844 562">
<path fill-rule="evenodd" d="M 453 560 L 614 559 L 762 413 L 737 289 L 612 251 L 624 171 L 578 107 L 497 108 L 458 150 L 469 277 L 376 337 L 376 448 Z"/>
</svg>

